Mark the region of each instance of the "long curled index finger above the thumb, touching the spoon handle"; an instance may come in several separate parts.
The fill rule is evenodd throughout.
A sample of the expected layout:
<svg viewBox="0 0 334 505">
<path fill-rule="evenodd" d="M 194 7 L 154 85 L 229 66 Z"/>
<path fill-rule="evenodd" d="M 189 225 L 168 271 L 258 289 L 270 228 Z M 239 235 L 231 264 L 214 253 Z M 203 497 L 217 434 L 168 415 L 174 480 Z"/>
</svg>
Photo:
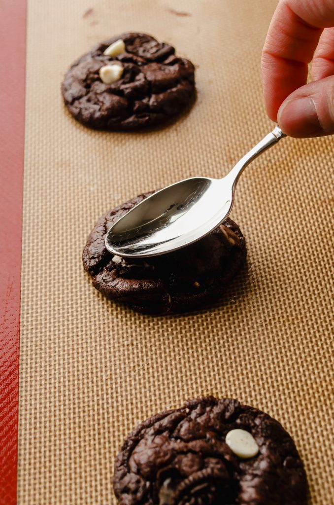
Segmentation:
<svg viewBox="0 0 334 505">
<path fill-rule="evenodd" d="M 321 32 L 333 24 L 333 0 L 281 0 L 277 6 L 261 64 L 265 106 L 273 121 L 287 96 L 306 84 Z"/>
</svg>

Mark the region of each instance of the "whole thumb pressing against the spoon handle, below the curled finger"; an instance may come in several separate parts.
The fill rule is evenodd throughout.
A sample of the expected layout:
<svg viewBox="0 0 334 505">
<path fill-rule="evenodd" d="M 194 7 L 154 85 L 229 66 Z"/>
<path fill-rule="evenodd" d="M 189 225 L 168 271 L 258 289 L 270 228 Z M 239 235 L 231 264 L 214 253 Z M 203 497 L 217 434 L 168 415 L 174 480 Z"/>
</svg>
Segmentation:
<svg viewBox="0 0 334 505">
<path fill-rule="evenodd" d="M 291 137 L 321 137 L 334 133 L 334 76 L 296 89 L 281 105 L 277 121 Z"/>
</svg>

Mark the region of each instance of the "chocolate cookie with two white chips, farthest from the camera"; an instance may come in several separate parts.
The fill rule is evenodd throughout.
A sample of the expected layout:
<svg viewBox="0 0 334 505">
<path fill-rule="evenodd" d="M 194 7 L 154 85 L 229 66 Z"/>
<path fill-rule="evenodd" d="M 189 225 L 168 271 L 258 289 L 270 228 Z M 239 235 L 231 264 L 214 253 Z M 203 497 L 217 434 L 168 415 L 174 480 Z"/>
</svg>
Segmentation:
<svg viewBox="0 0 334 505">
<path fill-rule="evenodd" d="M 64 102 L 91 128 L 137 130 L 169 121 L 195 96 L 194 66 L 144 33 L 124 33 L 95 46 L 65 75 Z"/>
</svg>

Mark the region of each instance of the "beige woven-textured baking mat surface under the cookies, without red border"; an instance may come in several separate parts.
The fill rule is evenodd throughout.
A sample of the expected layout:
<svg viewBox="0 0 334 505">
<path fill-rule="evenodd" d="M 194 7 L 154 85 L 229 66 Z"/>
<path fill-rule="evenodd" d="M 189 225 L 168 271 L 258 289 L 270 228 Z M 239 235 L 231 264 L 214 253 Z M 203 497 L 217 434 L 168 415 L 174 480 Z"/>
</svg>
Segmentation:
<svg viewBox="0 0 334 505">
<path fill-rule="evenodd" d="M 115 504 L 123 437 L 208 392 L 281 421 L 312 503 L 333 502 L 332 137 L 284 139 L 245 171 L 232 217 L 249 270 L 212 309 L 136 314 L 99 295 L 81 263 L 109 208 L 191 175 L 224 175 L 270 130 L 259 65 L 275 5 L 30 0 L 19 505 Z M 169 41 L 196 64 L 197 103 L 163 131 L 90 131 L 65 111 L 61 80 L 93 44 L 127 30 Z"/>
</svg>

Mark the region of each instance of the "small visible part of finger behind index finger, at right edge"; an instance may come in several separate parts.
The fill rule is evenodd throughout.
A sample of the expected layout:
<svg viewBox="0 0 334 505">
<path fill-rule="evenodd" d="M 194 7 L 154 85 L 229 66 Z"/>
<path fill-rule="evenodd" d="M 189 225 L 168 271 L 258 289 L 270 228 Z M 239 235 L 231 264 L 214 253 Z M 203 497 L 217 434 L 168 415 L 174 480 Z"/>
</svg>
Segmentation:
<svg viewBox="0 0 334 505">
<path fill-rule="evenodd" d="M 312 79 L 334 75 L 334 28 L 325 28 L 315 50 L 312 63 Z"/>
</svg>

